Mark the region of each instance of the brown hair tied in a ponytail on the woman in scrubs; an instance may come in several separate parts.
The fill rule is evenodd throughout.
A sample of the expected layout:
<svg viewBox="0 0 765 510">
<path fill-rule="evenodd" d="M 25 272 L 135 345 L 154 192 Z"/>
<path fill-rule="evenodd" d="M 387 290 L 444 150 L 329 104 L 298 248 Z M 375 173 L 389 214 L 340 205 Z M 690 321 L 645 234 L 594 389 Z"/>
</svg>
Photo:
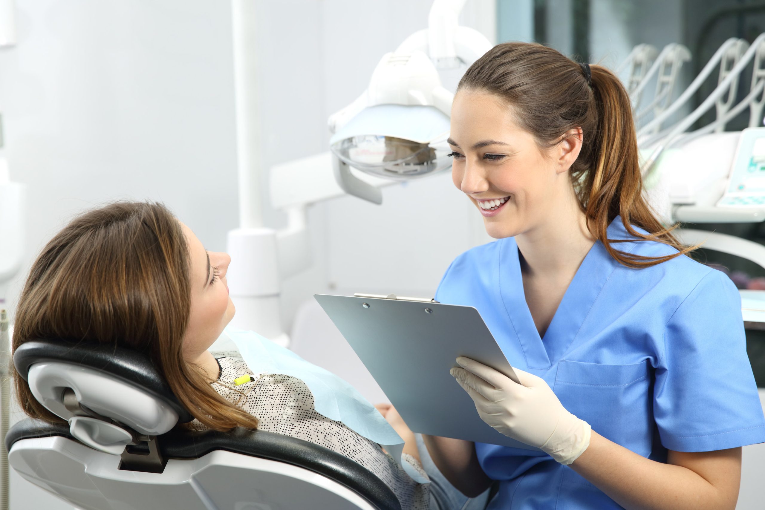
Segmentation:
<svg viewBox="0 0 765 510">
<path fill-rule="evenodd" d="M 630 268 L 643 268 L 685 255 L 687 247 L 664 228 L 643 198 L 632 105 L 614 73 L 592 65 L 591 83 L 583 67 L 557 50 L 528 43 L 497 44 L 470 66 L 457 91 L 490 93 L 516 114 L 541 148 L 557 144 L 571 129 L 581 128 L 583 142 L 569 175 L 588 229 L 607 252 Z M 624 228 L 640 240 L 663 242 L 679 253 L 646 257 L 611 246 L 611 221 L 621 216 Z M 648 234 L 633 228 L 638 226 Z"/>
</svg>

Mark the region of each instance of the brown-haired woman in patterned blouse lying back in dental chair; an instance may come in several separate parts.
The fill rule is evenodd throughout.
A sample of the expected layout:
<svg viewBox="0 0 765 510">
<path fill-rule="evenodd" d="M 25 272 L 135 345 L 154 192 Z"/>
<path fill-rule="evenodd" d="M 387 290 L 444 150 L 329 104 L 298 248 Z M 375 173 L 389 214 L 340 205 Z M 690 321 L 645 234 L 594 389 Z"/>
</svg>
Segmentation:
<svg viewBox="0 0 765 510">
<path fill-rule="evenodd" d="M 239 357 L 216 359 L 207 350 L 234 314 L 226 286 L 229 260 L 225 253 L 207 252 L 161 204 L 119 202 L 90 210 L 34 261 L 18 302 L 13 348 L 60 338 L 142 352 L 194 416 L 179 426 L 258 428 L 311 441 L 369 469 L 402 508 L 431 508 L 430 484 L 415 482 L 402 467 L 409 463 L 409 473 L 428 479 L 414 434 L 402 421 L 394 422 L 405 440 L 399 461 L 319 414 L 301 379 L 252 372 Z M 16 377 L 15 384 L 27 414 L 62 421 L 31 395 L 24 378 Z"/>
</svg>

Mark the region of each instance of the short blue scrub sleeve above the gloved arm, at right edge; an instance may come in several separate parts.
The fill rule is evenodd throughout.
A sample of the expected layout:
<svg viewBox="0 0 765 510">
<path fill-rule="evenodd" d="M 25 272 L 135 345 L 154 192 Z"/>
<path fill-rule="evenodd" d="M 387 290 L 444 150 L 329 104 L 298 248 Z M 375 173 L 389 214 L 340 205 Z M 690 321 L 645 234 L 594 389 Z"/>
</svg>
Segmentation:
<svg viewBox="0 0 765 510">
<path fill-rule="evenodd" d="M 762 441 L 741 296 L 728 276 L 712 270 L 698 282 L 664 328 L 659 355 L 653 417 L 664 447 L 704 452 Z"/>
</svg>

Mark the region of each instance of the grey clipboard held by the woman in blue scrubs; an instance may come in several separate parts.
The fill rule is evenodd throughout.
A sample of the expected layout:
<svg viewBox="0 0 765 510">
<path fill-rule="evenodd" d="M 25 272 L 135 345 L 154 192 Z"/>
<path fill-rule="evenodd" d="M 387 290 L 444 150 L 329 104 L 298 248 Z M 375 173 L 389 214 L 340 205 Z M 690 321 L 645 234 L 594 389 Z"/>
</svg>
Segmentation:
<svg viewBox="0 0 765 510">
<path fill-rule="evenodd" d="M 449 374 L 466 356 L 518 382 L 474 307 L 395 294 L 314 294 L 414 432 L 541 451 L 500 434 Z"/>
</svg>

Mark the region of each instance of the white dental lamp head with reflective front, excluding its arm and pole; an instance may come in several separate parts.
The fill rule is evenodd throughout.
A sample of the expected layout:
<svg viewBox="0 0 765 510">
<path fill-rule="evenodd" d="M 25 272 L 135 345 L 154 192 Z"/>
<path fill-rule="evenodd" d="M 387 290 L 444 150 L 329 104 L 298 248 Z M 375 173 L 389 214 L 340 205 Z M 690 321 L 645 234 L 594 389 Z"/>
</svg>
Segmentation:
<svg viewBox="0 0 765 510">
<path fill-rule="evenodd" d="M 337 184 L 348 194 L 382 203 L 379 187 L 360 180 L 356 168 L 383 179 L 408 180 L 451 167 L 447 143 L 454 95 L 420 50 L 386 54 L 361 98 L 330 117 L 330 149 Z M 339 127 L 339 129 L 338 129 Z"/>
</svg>

